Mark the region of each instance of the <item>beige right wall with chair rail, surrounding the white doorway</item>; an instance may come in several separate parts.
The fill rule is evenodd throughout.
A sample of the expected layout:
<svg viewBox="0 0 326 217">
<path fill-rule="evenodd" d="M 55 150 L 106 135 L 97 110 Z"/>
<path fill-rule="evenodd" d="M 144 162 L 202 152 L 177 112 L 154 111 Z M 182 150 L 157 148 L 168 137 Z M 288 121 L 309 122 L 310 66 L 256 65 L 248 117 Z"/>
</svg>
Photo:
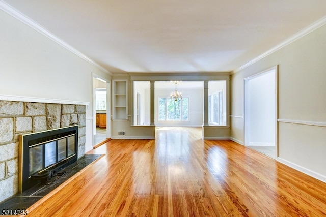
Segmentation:
<svg viewBox="0 0 326 217">
<path fill-rule="evenodd" d="M 278 160 L 326 181 L 326 25 L 231 77 L 231 136 L 243 142 L 243 79 L 278 65 Z"/>
</svg>

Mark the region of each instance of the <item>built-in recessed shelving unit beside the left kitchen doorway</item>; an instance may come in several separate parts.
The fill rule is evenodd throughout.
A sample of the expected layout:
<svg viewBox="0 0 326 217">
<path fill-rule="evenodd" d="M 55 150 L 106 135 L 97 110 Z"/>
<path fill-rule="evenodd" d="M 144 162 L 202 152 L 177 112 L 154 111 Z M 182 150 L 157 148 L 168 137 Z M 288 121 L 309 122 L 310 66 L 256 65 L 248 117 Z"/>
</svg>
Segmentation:
<svg viewBox="0 0 326 217">
<path fill-rule="evenodd" d="M 112 81 L 112 119 L 128 119 L 128 83 L 127 80 Z"/>
</svg>

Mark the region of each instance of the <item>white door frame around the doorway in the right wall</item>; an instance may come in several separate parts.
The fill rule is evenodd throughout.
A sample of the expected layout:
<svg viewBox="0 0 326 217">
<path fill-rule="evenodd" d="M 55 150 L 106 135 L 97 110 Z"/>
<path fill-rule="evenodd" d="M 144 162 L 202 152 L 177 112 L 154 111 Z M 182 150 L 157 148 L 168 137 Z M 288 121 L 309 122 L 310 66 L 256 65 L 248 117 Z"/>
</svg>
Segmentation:
<svg viewBox="0 0 326 217">
<path fill-rule="evenodd" d="M 275 156 L 274 158 L 278 158 L 278 66 L 271 67 L 267 70 L 261 71 L 259 73 L 256 73 L 254 75 L 251 75 L 249 77 L 246 77 L 243 79 L 243 88 L 244 88 L 244 96 L 243 96 L 243 129 L 244 129 L 244 145 L 248 146 L 250 142 L 249 138 L 249 123 L 250 123 L 250 117 L 248 115 L 248 109 L 246 109 L 248 105 L 248 82 L 254 78 L 257 78 L 259 76 L 271 73 L 271 71 L 275 72 Z"/>
</svg>

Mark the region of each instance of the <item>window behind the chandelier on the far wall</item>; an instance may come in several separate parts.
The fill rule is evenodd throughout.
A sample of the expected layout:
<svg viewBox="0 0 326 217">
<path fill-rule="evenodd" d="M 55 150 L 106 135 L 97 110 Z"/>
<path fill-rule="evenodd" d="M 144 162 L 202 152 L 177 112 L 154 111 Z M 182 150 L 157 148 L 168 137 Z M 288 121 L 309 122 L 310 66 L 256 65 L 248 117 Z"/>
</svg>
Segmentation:
<svg viewBox="0 0 326 217">
<path fill-rule="evenodd" d="M 183 97 L 180 101 L 159 97 L 158 103 L 158 120 L 189 120 L 188 97 Z"/>
</svg>

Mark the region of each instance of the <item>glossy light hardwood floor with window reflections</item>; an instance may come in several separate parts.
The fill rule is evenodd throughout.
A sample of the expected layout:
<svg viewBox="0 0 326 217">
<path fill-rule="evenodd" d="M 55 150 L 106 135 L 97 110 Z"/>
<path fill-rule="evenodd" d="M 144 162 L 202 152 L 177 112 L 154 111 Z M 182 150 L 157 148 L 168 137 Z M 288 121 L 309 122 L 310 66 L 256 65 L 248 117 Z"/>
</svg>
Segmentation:
<svg viewBox="0 0 326 217">
<path fill-rule="evenodd" d="M 111 140 L 29 216 L 324 216 L 326 183 L 201 128 Z"/>
</svg>

